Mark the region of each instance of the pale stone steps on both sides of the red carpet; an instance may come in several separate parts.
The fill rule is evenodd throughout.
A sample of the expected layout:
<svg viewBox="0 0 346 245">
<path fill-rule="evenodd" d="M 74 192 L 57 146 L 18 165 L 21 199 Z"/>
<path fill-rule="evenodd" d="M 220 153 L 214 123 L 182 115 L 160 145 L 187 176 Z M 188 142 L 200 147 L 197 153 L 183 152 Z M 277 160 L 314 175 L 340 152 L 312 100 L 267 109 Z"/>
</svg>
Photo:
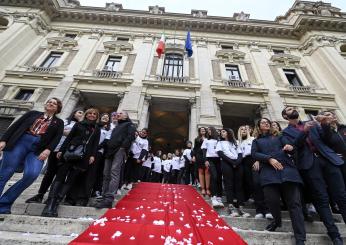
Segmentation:
<svg viewBox="0 0 346 245">
<path fill-rule="evenodd" d="M 21 178 L 15 174 L 8 182 L 8 186 Z M 25 200 L 37 193 L 42 176 L 32 184 L 16 201 L 12 214 L 0 215 L 0 245 L 8 244 L 67 244 L 88 225 L 105 213 L 106 209 L 97 210 L 92 207 L 60 206 L 58 218 L 45 218 L 40 214 L 44 204 L 26 204 Z M 124 195 L 125 193 L 123 193 Z M 117 199 L 120 199 L 118 196 Z M 252 217 L 255 214 L 253 206 L 248 205 L 247 212 Z M 289 245 L 294 244 L 291 222 L 287 211 L 282 212 L 282 227 L 277 232 L 263 231 L 268 221 L 254 218 L 231 218 L 226 209 L 218 209 L 219 215 L 224 218 L 233 229 L 251 245 Z M 338 220 L 337 226 L 346 241 L 346 225 L 341 222 L 341 215 L 334 215 Z M 317 219 L 318 220 L 318 219 Z M 322 222 L 305 223 L 308 245 L 331 244 L 326 235 Z"/>
</svg>

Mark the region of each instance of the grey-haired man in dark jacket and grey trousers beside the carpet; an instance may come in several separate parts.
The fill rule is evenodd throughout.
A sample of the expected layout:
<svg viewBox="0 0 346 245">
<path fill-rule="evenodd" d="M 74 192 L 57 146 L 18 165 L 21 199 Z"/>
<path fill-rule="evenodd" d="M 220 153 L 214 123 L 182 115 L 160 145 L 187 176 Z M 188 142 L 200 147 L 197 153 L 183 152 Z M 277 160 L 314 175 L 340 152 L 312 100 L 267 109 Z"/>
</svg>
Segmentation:
<svg viewBox="0 0 346 245">
<path fill-rule="evenodd" d="M 96 208 L 111 208 L 119 187 L 121 167 L 125 163 L 127 152 L 135 140 L 136 128 L 129 119 L 127 112 L 117 113 L 118 125 L 113 129 L 107 142 L 106 161 L 103 171 L 103 199 Z"/>
</svg>

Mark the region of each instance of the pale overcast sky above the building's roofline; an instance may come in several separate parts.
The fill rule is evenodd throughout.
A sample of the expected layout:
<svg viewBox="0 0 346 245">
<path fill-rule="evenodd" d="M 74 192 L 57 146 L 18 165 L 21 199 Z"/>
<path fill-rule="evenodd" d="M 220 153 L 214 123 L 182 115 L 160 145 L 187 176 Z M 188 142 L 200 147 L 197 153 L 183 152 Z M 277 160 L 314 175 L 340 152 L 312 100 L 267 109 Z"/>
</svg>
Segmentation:
<svg viewBox="0 0 346 245">
<path fill-rule="evenodd" d="M 251 19 L 274 20 L 284 15 L 294 0 L 80 0 L 83 6 L 104 7 L 106 2 L 121 3 L 125 9 L 148 10 L 148 6 L 165 7 L 166 12 L 191 13 L 191 9 L 208 10 L 208 15 L 232 17 L 244 11 Z M 330 0 L 346 12 L 346 0 Z"/>
</svg>

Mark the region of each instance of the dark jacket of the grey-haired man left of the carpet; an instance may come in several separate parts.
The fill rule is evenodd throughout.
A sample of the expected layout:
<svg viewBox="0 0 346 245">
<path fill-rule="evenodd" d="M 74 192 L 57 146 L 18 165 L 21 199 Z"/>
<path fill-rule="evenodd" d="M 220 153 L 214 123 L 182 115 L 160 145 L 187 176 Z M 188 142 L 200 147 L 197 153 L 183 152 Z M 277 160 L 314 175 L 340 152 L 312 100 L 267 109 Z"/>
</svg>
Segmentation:
<svg viewBox="0 0 346 245">
<path fill-rule="evenodd" d="M 112 158 L 120 149 L 128 151 L 132 141 L 135 140 L 136 128 L 130 119 L 118 121 L 118 125 L 113 129 L 111 138 L 107 142 L 106 158 Z"/>
</svg>

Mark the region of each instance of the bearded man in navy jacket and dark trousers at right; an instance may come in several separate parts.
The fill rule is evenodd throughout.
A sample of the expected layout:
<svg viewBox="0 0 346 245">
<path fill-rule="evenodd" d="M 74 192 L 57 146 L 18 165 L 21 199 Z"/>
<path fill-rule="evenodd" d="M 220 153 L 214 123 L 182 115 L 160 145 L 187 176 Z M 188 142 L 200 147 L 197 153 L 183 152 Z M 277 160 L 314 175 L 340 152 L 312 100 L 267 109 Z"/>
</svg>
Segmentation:
<svg viewBox="0 0 346 245">
<path fill-rule="evenodd" d="M 297 167 L 311 192 L 314 205 L 334 245 L 343 244 L 329 207 L 328 191 L 338 204 L 346 223 L 346 191 L 340 170 L 343 160 L 323 141 L 323 130 L 313 122 L 301 122 L 298 111 L 287 106 L 282 111 L 289 125 L 283 136 L 297 147 Z"/>
</svg>

